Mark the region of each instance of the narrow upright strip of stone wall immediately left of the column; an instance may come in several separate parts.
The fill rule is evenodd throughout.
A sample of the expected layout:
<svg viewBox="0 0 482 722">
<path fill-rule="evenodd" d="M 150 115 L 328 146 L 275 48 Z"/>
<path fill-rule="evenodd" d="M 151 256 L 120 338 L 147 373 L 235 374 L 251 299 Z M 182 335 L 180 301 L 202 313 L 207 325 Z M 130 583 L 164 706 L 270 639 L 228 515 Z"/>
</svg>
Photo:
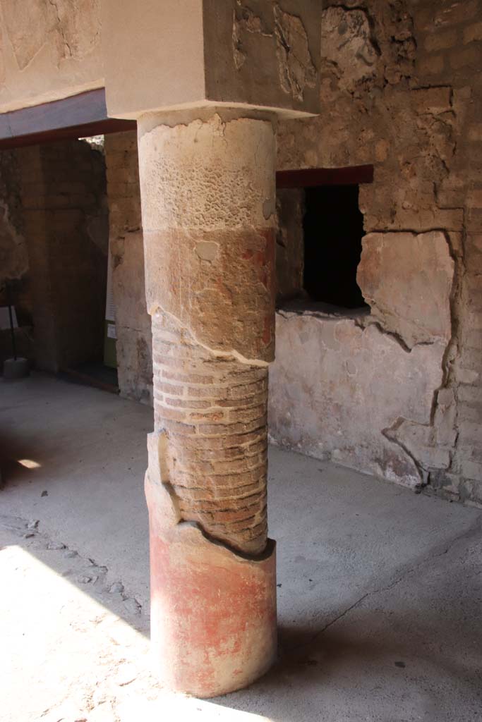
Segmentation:
<svg viewBox="0 0 482 722">
<path fill-rule="evenodd" d="M 136 132 L 106 136 L 105 150 L 119 388 L 122 396 L 152 404 Z"/>
</svg>

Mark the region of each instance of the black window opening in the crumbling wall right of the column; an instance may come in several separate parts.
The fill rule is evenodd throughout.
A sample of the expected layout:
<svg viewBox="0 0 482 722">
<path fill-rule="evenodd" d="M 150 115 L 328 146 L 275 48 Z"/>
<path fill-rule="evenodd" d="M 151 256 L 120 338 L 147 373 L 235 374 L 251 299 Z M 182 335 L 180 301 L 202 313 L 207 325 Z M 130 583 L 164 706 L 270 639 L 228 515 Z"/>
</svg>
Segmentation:
<svg viewBox="0 0 482 722">
<path fill-rule="evenodd" d="M 358 186 L 306 188 L 304 288 L 311 300 L 343 308 L 367 304 L 356 282 L 363 215 Z"/>
</svg>

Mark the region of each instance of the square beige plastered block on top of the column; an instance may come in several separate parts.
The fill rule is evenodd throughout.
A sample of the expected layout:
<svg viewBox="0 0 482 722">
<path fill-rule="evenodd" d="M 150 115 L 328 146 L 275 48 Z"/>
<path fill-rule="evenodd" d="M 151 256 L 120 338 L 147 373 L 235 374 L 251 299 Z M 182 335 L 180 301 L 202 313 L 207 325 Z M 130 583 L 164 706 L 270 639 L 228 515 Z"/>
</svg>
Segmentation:
<svg viewBox="0 0 482 722">
<path fill-rule="evenodd" d="M 319 0 L 103 0 L 108 113 L 319 112 Z"/>
</svg>

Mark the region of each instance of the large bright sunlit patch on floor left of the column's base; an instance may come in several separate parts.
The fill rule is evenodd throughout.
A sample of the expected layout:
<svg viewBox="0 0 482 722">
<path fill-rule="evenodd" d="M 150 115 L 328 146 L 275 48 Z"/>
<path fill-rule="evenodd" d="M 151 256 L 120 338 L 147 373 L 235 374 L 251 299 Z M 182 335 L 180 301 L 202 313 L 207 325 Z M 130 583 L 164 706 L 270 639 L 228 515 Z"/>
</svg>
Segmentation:
<svg viewBox="0 0 482 722">
<path fill-rule="evenodd" d="M 0 551 L 2 722 L 272 722 L 163 690 L 145 635 L 32 551 Z"/>
</svg>

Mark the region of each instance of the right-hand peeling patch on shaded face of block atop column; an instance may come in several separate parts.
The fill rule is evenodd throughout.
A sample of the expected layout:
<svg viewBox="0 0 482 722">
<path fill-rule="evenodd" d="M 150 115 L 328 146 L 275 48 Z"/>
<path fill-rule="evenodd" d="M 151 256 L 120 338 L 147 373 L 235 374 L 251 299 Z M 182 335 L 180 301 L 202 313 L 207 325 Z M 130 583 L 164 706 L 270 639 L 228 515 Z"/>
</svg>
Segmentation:
<svg viewBox="0 0 482 722">
<path fill-rule="evenodd" d="M 281 87 L 293 98 L 303 100 L 305 87 L 313 88 L 317 82 L 303 22 L 275 5 L 275 36 Z"/>
</svg>

